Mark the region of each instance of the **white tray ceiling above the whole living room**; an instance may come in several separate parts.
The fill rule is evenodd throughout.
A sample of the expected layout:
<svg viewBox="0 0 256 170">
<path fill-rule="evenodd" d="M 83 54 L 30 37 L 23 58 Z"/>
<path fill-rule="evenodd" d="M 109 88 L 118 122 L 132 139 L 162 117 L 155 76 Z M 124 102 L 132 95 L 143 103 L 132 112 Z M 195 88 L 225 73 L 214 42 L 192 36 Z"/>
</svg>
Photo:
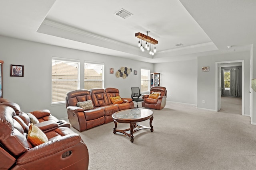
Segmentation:
<svg viewBox="0 0 256 170">
<path fill-rule="evenodd" d="M 116 16 L 121 8 L 133 15 Z M 0 35 L 163 63 L 250 50 L 255 9 L 255 0 L 2 0 Z M 154 56 L 138 48 L 135 33 L 146 31 Z"/>
</svg>

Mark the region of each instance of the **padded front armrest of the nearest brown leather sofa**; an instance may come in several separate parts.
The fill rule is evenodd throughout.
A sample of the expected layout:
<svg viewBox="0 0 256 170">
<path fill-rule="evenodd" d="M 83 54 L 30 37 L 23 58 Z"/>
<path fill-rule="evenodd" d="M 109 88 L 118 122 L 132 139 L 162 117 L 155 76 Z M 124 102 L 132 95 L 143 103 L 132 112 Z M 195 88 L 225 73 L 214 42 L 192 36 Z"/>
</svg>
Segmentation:
<svg viewBox="0 0 256 170">
<path fill-rule="evenodd" d="M 81 137 L 76 133 L 62 136 L 59 139 L 54 139 L 28 150 L 18 158 L 16 161 L 17 165 L 27 164 L 29 162 L 40 160 L 41 158 L 50 156 L 56 152 L 60 152 L 61 150 L 65 150 L 80 142 Z"/>
</svg>

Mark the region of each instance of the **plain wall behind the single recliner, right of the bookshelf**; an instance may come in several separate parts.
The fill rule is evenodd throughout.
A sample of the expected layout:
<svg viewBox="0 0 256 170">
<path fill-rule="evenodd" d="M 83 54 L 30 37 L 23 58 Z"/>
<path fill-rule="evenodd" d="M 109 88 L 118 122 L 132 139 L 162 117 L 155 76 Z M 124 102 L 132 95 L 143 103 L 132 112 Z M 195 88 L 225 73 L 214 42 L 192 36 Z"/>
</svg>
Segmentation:
<svg viewBox="0 0 256 170">
<path fill-rule="evenodd" d="M 196 105 L 196 60 L 159 63 L 154 65 L 154 70 L 161 73 L 160 86 L 167 89 L 167 101 Z"/>
</svg>

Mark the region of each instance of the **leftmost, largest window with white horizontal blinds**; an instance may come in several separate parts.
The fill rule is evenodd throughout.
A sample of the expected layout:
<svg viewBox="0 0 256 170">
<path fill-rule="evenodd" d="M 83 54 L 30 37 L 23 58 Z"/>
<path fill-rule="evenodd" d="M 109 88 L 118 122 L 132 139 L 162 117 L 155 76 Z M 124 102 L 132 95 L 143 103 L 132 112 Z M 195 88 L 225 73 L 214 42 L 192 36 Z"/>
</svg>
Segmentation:
<svg viewBox="0 0 256 170">
<path fill-rule="evenodd" d="M 67 92 L 79 89 L 79 61 L 52 58 L 52 103 L 65 102 Z"/>
</svg>

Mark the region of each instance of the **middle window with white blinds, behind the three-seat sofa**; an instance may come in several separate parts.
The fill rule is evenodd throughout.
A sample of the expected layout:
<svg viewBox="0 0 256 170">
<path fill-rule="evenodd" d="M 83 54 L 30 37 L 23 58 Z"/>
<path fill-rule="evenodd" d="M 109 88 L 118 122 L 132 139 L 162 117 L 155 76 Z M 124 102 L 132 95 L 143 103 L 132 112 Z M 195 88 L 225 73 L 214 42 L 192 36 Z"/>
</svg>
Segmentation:
<svg viewBox="0 0 256 170">
<path fill-rule="evenodd" d="M 104 64 L 84 63 L 84 89 L 104 88 Z"/>
</svg>

